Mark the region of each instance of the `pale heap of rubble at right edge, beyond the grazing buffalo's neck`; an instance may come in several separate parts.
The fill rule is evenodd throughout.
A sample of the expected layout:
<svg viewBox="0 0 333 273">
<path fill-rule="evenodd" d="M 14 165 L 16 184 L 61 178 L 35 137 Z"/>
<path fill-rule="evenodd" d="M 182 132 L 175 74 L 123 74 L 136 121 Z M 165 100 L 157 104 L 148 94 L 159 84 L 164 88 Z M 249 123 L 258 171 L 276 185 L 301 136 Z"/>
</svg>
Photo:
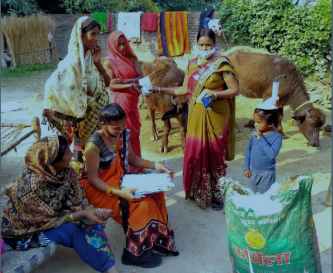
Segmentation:
<svg viewBox="0 0 333 273">
<path fill-rule="evenodd" d="M 332 108 L 332 81 L 331 79 L 321 82 L 305 82 L 310 94 L 310 101 L 323 105 L 325 108 Z"/>
</svg>

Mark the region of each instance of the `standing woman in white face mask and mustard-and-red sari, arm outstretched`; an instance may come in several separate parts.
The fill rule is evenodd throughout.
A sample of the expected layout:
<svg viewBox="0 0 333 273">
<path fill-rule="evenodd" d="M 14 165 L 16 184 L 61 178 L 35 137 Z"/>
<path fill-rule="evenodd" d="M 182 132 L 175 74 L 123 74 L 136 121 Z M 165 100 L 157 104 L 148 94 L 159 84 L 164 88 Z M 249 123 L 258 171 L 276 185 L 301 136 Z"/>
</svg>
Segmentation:
<svg viewBox="0 0 333 273">
<path fill-rule="evenodd" d="M 212 203 L 214 210 L 221 210 L 223 198 L 218 181 L 226 175 L 226 160 L 235 157 L 235 96 L 239 85 L 229 59 L 216 54 L 214 32 L 201 30 L 197 42 L 200 58 L 189 62 L 183 86 L 153 87 L 151 91 L 188 94 L 183 174 L 186 199 L 194 199 L 201 207 Z M 213 99 L 209 108 L 201 102 L 205 94 Z"/>
</svg>

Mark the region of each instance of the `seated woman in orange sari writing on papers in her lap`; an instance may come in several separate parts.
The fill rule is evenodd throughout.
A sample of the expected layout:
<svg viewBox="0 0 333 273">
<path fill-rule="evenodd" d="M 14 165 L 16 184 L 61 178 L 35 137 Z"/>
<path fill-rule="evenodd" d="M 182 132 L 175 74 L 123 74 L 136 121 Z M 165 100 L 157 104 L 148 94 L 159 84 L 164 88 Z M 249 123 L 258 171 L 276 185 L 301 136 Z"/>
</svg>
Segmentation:
<svg viewBox="0 0 333 273">
<path fill-rule="evenodd" d="M 121 189 L 121 180 L 128 172 L 129 164 L 154 169 L 172 178 L 175 173 L 134 153 L 126 123 L 127 115 L 117 103 L 103 108 L 101 129 L 86 145 L 86 169 L 80 182 L 89 202 L 95 207 L 113 209 L 113 219 L 123 226 L 126 234 L 123 264 L 152 268 L 161 263 L 157 255 L 179 254 L 164 193 L 137 197 L 133 194 L 136 189 Z"/>
</svg>

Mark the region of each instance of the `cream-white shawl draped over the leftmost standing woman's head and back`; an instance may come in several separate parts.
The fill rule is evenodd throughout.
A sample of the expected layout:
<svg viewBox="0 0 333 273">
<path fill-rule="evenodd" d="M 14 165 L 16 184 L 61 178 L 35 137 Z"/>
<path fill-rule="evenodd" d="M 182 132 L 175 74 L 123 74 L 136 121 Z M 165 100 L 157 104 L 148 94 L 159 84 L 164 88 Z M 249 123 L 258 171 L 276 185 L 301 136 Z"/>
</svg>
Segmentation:
<svg viewBox="0 0 333 273">
<path fill-rule="evenodd" d="M 68 45 L 68 54 L 45 83 L 44 108 L 74 118 L 83 118 L 87 110 L 87 70 L 89 87 L 97 88 L 98 70 L 93 64 L 90 50 L 87 51 L 87 65 L 82 43 L 84 16 L 76 21 Z M 95 79 L 95 80 L 94 80 Z M 89 89 L 90 89 L 89 88 Z M 94 90 L 90 90 L 94 93 Z"/>
</svg>

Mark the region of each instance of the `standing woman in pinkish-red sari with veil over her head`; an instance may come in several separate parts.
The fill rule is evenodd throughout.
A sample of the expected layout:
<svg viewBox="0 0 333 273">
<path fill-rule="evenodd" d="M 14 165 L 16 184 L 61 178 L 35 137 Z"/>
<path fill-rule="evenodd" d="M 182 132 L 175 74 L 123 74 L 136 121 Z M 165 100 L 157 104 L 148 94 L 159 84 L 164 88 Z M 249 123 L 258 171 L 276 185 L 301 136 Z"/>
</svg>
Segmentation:
<svg viewBox="0 0 333 273">
<path fill-rule="evenodd" d="M 109 90 L 114 103 L 118 103 L 126 112 L 126 129 L 131 130 L 131 146 L 135 155 L 141 157 L 140 115 L 138 110 L 143 78 L 138 58 L 121 31 L 114 31 L 108 37 L 108 53 L 102 62 L 107 75 L 111 78 Z M 134 171 L 134 168 L 131 168 Z"/>
</svg>

